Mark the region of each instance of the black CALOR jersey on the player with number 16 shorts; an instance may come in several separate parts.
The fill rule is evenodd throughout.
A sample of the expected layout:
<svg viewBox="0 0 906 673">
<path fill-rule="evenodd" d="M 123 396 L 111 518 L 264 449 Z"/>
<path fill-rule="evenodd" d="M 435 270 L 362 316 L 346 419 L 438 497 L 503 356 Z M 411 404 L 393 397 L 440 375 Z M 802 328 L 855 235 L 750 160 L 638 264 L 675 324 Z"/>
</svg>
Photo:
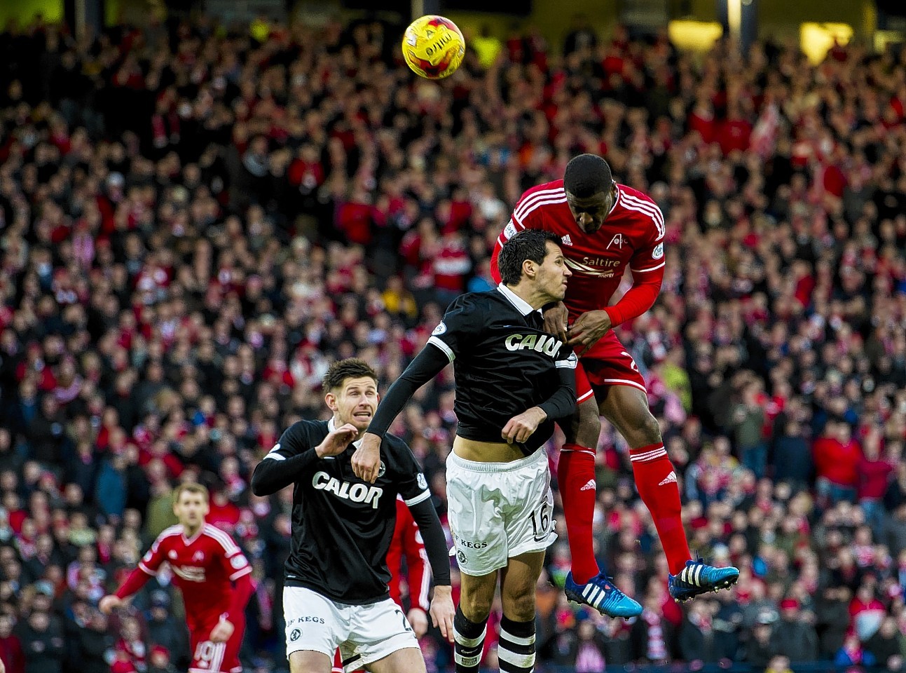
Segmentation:
<svg viewBox="0 0 906 673">
<path fill-rule="evenodd" d="M 457 434 L 500 442 L 515 415 L 545 402 L 560 386 L 557 369 L 575 369 L 572 348 L 546 334 L 541 312 L 500 286 L 457 297 L 428 339 L 453 362 Z M 547 418 L 525 443 L 535 451 L 554 434 Z"/>
</svg>

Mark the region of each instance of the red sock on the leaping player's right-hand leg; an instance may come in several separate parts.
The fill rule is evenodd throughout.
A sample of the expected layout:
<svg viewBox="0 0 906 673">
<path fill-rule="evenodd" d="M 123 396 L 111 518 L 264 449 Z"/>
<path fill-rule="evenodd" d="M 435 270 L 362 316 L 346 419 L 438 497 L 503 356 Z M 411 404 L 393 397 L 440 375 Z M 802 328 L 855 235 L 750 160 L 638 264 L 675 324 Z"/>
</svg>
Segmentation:
<svg viewBox="0 0 906 673">
<path fill-rule="evenodd" d="M 667 457 L 664 444 L 649 444 L 629 452 L 635 486 L 641 501 L 651 512 L 651 519 L 658 529 L 660 546 L 667 556 L 670 574 L 676 575 L 692 558 L 686 531 L 682 526 L 682 504 L 679 501 L 677 473 Z M 561 460 L 563 460 L 561 458 Z M 564 502 L 565 507 L 565 502 Z M 566 520 L 567 526 L 569 519 Z M 572 546 L 573 538 L 570 538 Z"/>
</svg>

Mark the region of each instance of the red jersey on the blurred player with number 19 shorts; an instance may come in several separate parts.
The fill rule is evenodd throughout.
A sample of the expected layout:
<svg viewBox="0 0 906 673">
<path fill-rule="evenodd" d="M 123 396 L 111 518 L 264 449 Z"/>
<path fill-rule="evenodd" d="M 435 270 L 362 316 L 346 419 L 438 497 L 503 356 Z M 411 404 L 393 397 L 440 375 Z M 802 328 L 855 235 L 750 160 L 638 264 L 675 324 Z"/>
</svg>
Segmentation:
<svg viewBox="0 0 906 673">
<path fill-rule="evenodd" d="M 170 526 L 139 561 L 139 568 L 157 575 L 164 561 L 182 591 L 189 630 L 213 627 L 229 610 L 232 582 L 252 571 L 233 538 L 210 523 L 205 523 L 191 540 L 183 534 L 182 526 Z"/>
</svg>

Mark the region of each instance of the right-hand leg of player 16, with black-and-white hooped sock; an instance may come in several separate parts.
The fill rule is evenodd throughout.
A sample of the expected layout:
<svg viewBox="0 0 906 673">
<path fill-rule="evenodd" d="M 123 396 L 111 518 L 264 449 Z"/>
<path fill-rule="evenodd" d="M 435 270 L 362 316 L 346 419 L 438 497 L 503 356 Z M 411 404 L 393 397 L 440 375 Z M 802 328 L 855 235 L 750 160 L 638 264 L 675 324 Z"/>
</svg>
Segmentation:
<svg viewBox="0 0 906 673">
<path fill-rule="evenodd" d="M 509 560 L 500 571 L 500 641 L 497 658 L 507 670 L 529 673 L 535 669 L 535 587 L 545 563 L 544 551 L 529 551 Z"/>
</svg>

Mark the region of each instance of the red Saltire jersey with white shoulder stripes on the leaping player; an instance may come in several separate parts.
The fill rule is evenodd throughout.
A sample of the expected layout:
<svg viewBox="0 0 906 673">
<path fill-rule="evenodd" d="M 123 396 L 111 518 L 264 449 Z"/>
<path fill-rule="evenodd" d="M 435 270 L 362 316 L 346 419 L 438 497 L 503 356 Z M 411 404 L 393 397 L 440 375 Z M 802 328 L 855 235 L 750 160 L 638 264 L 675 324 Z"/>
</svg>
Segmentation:
<svg viewBox="0 0 906 673">
<path fill-rule="evenodd" d="M 618 184 L 613 209 L 602 228 L 593 234 L 584 233 L 576 224 L 566 205 L 563 180 L 527 190 L 497 238 L 491 261 L 491 272 L 497 282 L 500 281 L 497 254 L 506 240 L 523 229 L 547 229 L 563 239 L 566 263 L 573 272 L 564 299 L 571 321 L 586 311 L 608 307 L 626 269 L 632 271 L 634 286 L 644 282 L 660 289 L 665 263 L 664 218 L 657 204 L 639 190 Z M 636 315 L 650 307 L 651 304 L 643 307 Z M 625 319 L 630 317 L 633 316 Z"/>
</svg>

